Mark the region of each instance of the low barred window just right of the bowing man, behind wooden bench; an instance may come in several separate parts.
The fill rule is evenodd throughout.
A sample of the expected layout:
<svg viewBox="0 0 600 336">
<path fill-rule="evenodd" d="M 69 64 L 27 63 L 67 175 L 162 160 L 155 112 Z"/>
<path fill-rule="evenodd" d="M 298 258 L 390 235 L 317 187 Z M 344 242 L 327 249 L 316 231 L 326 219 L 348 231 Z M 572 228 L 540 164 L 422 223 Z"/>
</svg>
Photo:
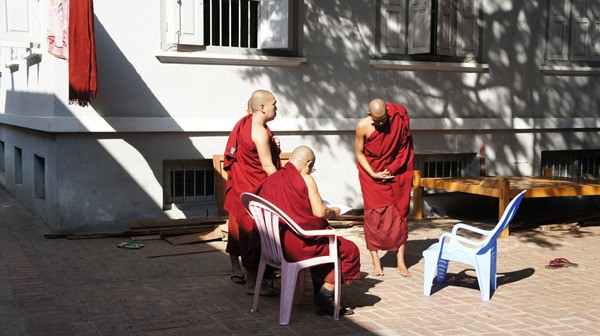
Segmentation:
<svg viewBox="0 0 600 336">
<path fill-rule="evenodd" d="M 414 169 L 421 177 L 463 177 L 475 173 L 475 153 L 417 154 Z"/>
</svg>

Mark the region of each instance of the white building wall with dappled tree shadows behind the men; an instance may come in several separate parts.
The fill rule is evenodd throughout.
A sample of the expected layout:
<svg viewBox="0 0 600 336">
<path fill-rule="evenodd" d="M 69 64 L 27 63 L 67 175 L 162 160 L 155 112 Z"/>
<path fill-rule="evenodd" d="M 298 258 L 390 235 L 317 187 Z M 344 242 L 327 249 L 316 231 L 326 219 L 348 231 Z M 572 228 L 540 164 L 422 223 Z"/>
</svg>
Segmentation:
<svg viewBox="0 0 600 336">
<path fill-rule="evenodd" d="M 41 0 L 41 13 L 48 2 Z M 278 99 L 283 151 L 316 150 L 331 202 L 361 206 L 354 125 L 374 97 L 405 105 L 416 153 L 477 153 L 488 174 L 538 174 L 542 150 L 600 148 L 595 76 L 544 75 L 546 1 L 484 0 L 486 73 L 376 69 L 379 1 L 297 2 L 298 67 L 162 63 L 164 1 L 95 1 L 99 98 L 68 104 L 68 63 L 0 47 L 0 140 L 46 159 L 47 197 L 17 186 L 7 151 L 0 182 L 56 231 L 123 229 L 162 210 L 162 161 L 210 159 L 258 88 Z M 40 16 L 42 30 L 46 15 Z M 43 35 L 43 34 L 42 34 Z M 17 54 L 18 57 L 13 56 Z M 30 174 L 24 160 L 24 175 Z"/>
</svg>

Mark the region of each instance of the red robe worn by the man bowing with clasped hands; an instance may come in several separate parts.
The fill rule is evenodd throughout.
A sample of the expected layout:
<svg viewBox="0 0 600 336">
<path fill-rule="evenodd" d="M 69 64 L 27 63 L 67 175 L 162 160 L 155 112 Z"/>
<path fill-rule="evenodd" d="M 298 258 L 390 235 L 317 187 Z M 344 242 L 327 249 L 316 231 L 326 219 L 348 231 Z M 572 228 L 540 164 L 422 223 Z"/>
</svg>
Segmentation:
<svg viewBox="0 0 600 336">
<path fill-rule="evenodd" d="M 413 178 L 413 145 L 410 120 L 404 106 L 386 103 L 388 122 L 376 127 L 365 140 L 364 154 L 375 172 L 387 169 L 396 177 L 390 181 L 374 180 L 358 164 L 358 177 L 365 208 L 365 242 L 369 250 L 397 250 L 408 237 L 410 190 Z M 379 221 L 374 227 L 372 212 L 385 217 L 386 207 L 395 206 L 398 220 Z M 395 216 L 394 216 L 395 217 Z"/>
</svg>

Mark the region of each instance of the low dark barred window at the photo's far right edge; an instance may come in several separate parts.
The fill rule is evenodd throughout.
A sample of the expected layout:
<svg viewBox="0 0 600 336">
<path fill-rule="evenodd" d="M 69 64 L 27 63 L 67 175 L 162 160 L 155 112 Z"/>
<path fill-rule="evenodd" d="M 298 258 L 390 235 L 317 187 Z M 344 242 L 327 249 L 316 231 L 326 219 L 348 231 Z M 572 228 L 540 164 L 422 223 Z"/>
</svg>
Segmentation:
<svg viewBox="0 0 600 336">
<path fill-rule="evenodd" d="M 600 176 L 600 150 L 542 151 L 541 175 L 552 169 L 552 176 L 583 178 Z"/>
</svg>

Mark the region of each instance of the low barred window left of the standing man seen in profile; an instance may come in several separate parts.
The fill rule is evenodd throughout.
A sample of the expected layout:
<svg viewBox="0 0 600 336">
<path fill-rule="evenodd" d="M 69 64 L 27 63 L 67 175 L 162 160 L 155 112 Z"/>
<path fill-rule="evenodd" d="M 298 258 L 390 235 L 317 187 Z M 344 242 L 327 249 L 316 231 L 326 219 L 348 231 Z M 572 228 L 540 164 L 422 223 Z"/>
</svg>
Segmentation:
<svg viewBox="0 0 600 336">
<path fill-rule="evenodd" d="M 212 160 L 164 162 L 165 204 L 216 207 Z"/>
</svg>

